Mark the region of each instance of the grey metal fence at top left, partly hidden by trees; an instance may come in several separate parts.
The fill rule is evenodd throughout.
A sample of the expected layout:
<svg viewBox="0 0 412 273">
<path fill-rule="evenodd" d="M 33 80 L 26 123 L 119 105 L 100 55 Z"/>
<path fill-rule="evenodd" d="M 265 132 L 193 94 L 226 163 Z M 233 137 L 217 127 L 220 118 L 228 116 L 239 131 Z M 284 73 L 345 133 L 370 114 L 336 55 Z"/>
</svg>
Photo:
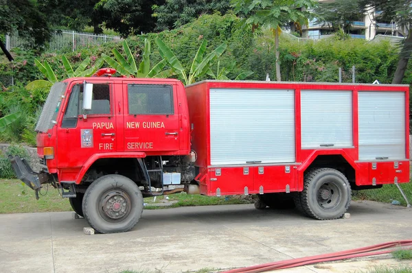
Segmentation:
<svg viewBox="0 0 412 273">
<path fill-rule="evenodd" d="M 80 47 L 102 45 L 103 43 L 119 43 L 121 40 L 122 38 L 119 36 L 55 29 L 52 32 L 49 44 L 45 47 L 49 51 L 76 51 Z M 32 49 L 36 47 L 36 44 L 34 38 L 25 38 L 19 36 L 18 33 L 14 33 L 6 37 L 6 47 L 8 50 L 14 47 Z"/>
</svg>

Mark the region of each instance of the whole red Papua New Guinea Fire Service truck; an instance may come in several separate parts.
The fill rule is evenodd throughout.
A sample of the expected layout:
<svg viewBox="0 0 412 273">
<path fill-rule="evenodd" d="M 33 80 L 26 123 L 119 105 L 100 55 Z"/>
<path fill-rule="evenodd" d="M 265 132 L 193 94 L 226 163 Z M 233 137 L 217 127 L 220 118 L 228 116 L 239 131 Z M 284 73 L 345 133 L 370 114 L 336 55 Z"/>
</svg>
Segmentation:
<svg viewBox="0 0 412 273">
<path fill-rule="evenodd" d="M 186 191 L 293 200 L 315 219 L 342 217 L 351 189 L 409 182 L 409 87 L 386 84 L 69 78 L 38 120 L 32 171 L 100 233 L 130 230 L 146 196 Z"/>
</svg>

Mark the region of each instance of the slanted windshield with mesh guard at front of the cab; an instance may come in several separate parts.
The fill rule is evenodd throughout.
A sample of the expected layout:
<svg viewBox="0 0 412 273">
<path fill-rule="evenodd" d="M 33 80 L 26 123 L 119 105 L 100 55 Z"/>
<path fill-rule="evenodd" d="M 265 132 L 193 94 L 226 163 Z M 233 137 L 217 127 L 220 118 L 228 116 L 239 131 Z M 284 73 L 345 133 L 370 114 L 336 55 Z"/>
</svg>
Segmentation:
<svg viewBox="0 0 412 273">
<path fill-rule="evenodd" d="M 45 106 L 36 125 L 36 132 L 47 132 L 56 123 L 58 109 L 65 94 L 67 82 L 56 82 L 50 89 Z"/>
</svg>

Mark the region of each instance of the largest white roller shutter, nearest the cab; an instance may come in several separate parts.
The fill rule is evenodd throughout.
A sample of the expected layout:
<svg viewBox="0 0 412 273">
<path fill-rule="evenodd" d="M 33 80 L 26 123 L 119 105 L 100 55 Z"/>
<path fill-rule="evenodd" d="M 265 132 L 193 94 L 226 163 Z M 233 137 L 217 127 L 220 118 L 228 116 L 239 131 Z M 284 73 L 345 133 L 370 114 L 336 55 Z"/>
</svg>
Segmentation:
<svg viewBox="0 0 412 273">
<path fill-rule="evenodd" d="M 295 162 L 295 92 L 210 90 L 211 165 Z"/>
</svg>

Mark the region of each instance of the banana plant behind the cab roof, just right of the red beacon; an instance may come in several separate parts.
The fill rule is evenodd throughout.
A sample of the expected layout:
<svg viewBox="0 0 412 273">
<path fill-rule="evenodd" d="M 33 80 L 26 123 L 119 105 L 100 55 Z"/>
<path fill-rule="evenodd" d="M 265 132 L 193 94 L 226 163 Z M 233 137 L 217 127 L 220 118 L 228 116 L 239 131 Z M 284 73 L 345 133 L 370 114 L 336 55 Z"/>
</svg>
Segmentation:
<svg viewBox="0 0 412 273">
<path fill-rule="evenodd" d="M 123 49 L 126 54 L 126 58 L 119 53 L 117 49 L 113 49 L 113 55 L 115 59 L 106 54 L 102 54 L 103 60 L 105 60 L 111 67 L 116 69 L 120 75 L 133 76 L 136 78 L 169 78 L 174 75 L 172 69 L 162 71 L 168 62 L 161 60 L 155 67 L 150 69 L 150 54 L 151 46 L 148 39 L 144 39 L 144 52 L 142 54 L 139 68 L 137 68 L 135 57 L 130 51 L 130 47 L 126 40 L 123 41 Z"/>
</svg>

